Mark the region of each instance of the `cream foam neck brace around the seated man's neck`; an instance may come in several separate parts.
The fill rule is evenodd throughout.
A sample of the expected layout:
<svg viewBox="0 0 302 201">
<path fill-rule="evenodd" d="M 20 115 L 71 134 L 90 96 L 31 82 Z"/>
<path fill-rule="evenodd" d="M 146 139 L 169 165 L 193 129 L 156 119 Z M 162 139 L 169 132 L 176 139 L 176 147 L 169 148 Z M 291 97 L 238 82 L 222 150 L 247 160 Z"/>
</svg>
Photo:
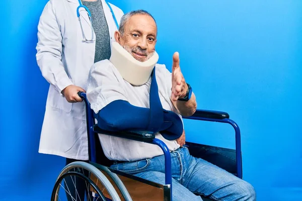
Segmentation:
<svg viewBox="0 0 302 201">
<path fill-rule="evenodd" d="M 137 61 L 120 44 L 115 41 L 112 42 L 109 61 L 116 67 L 123 79 L 132 85 L 142 85 L 146 83 L 158 60 L 159 55 L 155 51 L 153 56 L 147 61 Z"/>
</svg>

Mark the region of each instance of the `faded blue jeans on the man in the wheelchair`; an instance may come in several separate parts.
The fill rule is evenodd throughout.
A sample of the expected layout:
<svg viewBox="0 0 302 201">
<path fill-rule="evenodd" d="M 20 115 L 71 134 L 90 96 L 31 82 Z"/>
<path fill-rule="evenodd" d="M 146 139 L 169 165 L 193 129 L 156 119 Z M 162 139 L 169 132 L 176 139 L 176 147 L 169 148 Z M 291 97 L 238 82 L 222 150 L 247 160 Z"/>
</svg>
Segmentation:
<svg viewBox="0 0 302 201">
<path fill-rule="evenodd" d="M 187 147 L 171 152 L 172 162 L 172 198 L 176 200 L 202 200 L 200 196 L 211 199 L 256 200 L 251 184 L 233 174 L 190 155 Z M 135 176 L 165 184 L 164 155 L 135 162 L 117 163 L 111 168 Z"/>
</svg>

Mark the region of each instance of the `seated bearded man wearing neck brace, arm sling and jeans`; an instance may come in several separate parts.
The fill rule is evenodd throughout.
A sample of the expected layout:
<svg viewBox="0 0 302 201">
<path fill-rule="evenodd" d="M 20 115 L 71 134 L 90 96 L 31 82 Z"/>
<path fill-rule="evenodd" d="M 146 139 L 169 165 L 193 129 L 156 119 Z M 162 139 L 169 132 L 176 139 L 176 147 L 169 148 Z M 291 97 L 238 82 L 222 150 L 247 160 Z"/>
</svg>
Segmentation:
<svg viewBox="0 0 302 201">
<path fill-rule="evenodd" d="M 196 98 L 173 55 L 172 73 L 157 64 L 157 24 L 146 11 L 124 15 L 109 60 L 90 70 L 87 97 L 97 124 L 104 130 L 147 130 L 171 153 L 173 200 L 256 200 L 248 182 L 190 155 L 182 146 L 185 134 L 181 116 L 196 111 Z M 116 161 L 111 167 L 135 176 L 165 183 L 164 155 L 153 144 L 99 135 L 104 153 Z M 197 195 L 196 195 L 197 194 Z"/>
</svg>

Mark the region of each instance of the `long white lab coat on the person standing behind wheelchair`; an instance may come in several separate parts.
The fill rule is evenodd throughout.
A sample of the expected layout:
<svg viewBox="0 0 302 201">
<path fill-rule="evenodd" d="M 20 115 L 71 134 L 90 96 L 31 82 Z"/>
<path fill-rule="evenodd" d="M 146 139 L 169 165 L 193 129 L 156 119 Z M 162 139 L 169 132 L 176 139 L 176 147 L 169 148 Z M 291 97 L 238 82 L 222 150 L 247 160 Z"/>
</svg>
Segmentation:
<svg viewBox="0 0 302 201">
<path fill-rule="evenodd" d="M 108 5 L 101 1 L 112 42 L 117 27 Z M 95 42 L 83 42 L 78 6 L 78 0 L 50 0 L 40 17 L 36 58 L 50 87 L 39 153 L 88 160 L 85 103 L 68 103 L 61 94 L 70 84 L 86 90 L 88 73 L 94 64 Z M 114 5 L 111 7 L 119 23 L 123 12 Z M 89 18 L 84 12 L 81 17 L 86 37 L 90 39 Z"/>
</svg>

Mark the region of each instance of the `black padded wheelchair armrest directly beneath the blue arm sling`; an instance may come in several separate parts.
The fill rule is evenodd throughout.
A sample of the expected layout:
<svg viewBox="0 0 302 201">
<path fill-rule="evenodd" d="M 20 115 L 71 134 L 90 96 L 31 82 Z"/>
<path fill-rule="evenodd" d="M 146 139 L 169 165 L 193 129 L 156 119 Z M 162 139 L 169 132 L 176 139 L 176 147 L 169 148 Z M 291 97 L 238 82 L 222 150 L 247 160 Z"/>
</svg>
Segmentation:
<svg viewBox="0 0 302 201">
<path fill-rule="evenodd" d="M 155 139 L 155 133 L 152 133 L 150 131 L 106 131 L 98 127 L 98 125 L 93 126 L 93 131 L 95 133 L 111 135 L 140 142 L 152 142 Z"/>
</svg>

